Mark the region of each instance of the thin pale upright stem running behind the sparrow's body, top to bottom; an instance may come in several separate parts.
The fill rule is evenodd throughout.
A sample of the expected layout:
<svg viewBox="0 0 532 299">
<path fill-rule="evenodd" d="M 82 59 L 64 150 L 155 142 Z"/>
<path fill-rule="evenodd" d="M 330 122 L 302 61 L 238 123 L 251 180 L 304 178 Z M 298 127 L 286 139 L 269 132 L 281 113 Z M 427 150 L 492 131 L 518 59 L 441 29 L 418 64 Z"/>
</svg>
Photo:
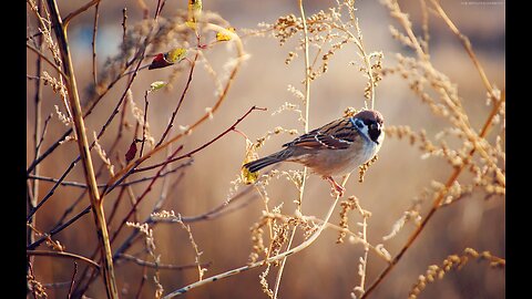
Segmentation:
<svg viewBox="0 0 532 299">
<path fill-rule="evenodd" d="M 303 21 L 303 32 L 305 39 L 305 133 L 308 133 L 308 114 L 310 111 L 310 62 L 308 58 L 308 29 L 307 29 L 307 19 L 305 17 L 305 9 L 303 8 L 303 0 L 298 0 L 299 2 L 299 12 L 301 13 L 301 21 Z M 303 194 L 305 193 L 305 183 L 307 178 L 307 166 L 303 168 L 303 178 L 301 178 L 301 186 L 299 187 L 299 199 L 297 203 L 297 209 L 301 212 L 301 204 L 303 204 Z M 294 236 L 296 235 L 296 228 L 291 229 L 290 239 L 288 240 L 288 245 L 286 250 L 289 250 L 291 247 L 291 241 L 294 240 Z M 277 277 L 275 279 L 275 289 L 274 289 L 274 298 L 277 298 L 277 293 L 279 291 L 280 286 L 280 278 L 283 276 L 283 270 L 285 269 L 287 257 L 283 258 L 279 265 L 279 271 L 277 272 Z"/>
</svg>

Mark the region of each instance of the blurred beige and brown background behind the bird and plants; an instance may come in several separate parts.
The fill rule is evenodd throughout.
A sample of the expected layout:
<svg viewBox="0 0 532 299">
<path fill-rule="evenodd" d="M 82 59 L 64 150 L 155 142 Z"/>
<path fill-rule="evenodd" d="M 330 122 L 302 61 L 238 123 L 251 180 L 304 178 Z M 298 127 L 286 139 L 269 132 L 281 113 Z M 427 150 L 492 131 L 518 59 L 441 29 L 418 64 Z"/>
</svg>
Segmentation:
<svg viewBox="0 0 532 299">
<path fill-rule="evenodd" d="M 415 24 L 416 33 L 421 35 L 420 1 L 399 1 L 403 11 L 409 13 Z M 305 11 L 311 16 L 319 10 L 335 7 L 336 1 L 305 1 Z M 62 16 L 79 8 L 79 1 L 60 1 Z M 151 13 L 155 9 L 154 1 L 146 1 Z M 277 18 L 294 13 L 299 16 L 297 1 L 203 1 L 204 10 L 219 13 L 231 25 L 241 33 L 243 29 L 257 29 L 259 22 L 274 23 Z M 396 65 L 395 53 L 411 55 L 411 51 L 391 38 L 389 25 L 397 28 L 396 20 L 389 16 L 386 7 L 378 1 L 356 1 L 357 17 L 364 34 L 366 50 L 383 52 L 383 68 Z M 504 1 L 491 2 L 442 2 L 448 16 L 453 20 L 461 32 L 468 35 L 479 61 L 484 68 L 488 78 L 499 89 L 505 86 L 505 3 Z M 100 4 L 100 20 L 98 28 L 96 53 L 99 70 L 103 70 L 105 60 L 115 55 L 122 40 L 122 9 L 127 8 L 127 23 L 133 25 L 142 19 L 142 10 L 135 1 L 102 1 Z M 186 9 L 186 1 L 166 1 L 163 17 L 171 17 L 177 9 Z M 29 11 L 29 10 L 28 10 Z M 458 92 L 469 113 L 473 127 L 480 128 L 484 122 L 490 106 L 485 105 L 485 89 L 467 52 L 456 35 L 444 22 L 434 13 L 430 13 L 430 54 L 433 65 L 457 84 Z M 34 33 L 35 20 L 28 13 L 29 33 Z M 75 75 L 81 97 L 86 97 L 86 90 L 92 82 L 91 73 L 91 39 L 93 27 L 93 9 L 80 14 L 72 20 L 69 27 L 74 60 Z M 241 32 L 239 32 L 241 31 Z M 294 50 L 294 42 L 279 47 L 278 40 L 268 37 L 247 37 L 243 39 L 244 49 L 249 59 L 239 69 L 226 101 L 215 114 L 214 118 L 201 125 L 177 144 L 184 145 L 184 151 L 191 151 L 214 138 L 217 134 L 229 127 L 250 106 L 267 107 L 267 112 L 254 112 L 245 118 L 238 130 L 252 141 L 263 136 L 276 126 L 297 128 L 303 132 L 303 124 L 297 121 L 298 115 L 293 112 L 283 112 L 272 115 L 285 102 L 303 104 L 287 91 L 288 84 L 304 91 L 303 54 L 289 65 L 285 59 Z M 206 51 L 206 56 L 221 74 L 223 65 L 233 55 L 228 47 L 216 47 Z M 34 74 L 35 55 L 28 51 L 28 74 Z M 327 122 L 341 116 L 347 106 L 361 109 L 364 106 L 364 87 L 366 79 L 357 66 L 350 61 L 358 61 L 355 45 L 350 44 L 331 58 L 328 72 L 314 81 L 310 86 L 309 126 L 318 127 Z M 146 61 L 147 62 L 147 61 Z M 156 80 L 166 80 L 172 70 L 164 69 L 157 72 L 142 71 L 135 80 L 132 91 L 135 103 L 143 107 L 144 91 Z M 147 121 L 150 131 L 155 140 L 166 127 L 167 120 L 181 95 L 186 82 L 188 68 L 184 68 L 173 89 L 150 94 L 150 110 Z M 34 158 L 33 122 L 34 122 L 34 82 L 28 80 L 27 85 L 27 124 L 28 124 L 28 165 Z M 92 132 L 99 131 L 102 123 L 120 100 L 125 86 L 125 80 L 105 95 L 103 101 L 86 118 L 90 141 Z M 214 84 L 202 64 L 196 68 L 191 89 L 183 106 L 177 114 L 175 124 L 191 124 L 205 112 L 206 107 L 214 104 Z M 376 109 L 385 116 L 386 125 L 409 125 L 415 132 L 424 128 L 429 138 L 433 140 L 437 132 L 449 126 L 446 120 L 431 114 L 430 109 L 421 103 L 408 86 L 408 82 L 399 75 L 387 75 L 376 91 Z M 61 106 L 60 99 L 49 86 L 43 87 L 42 115 L 44 117 L 54 112 L 53 105 Z M 121 159 L 133 138 L 134 118 L 127 112 L 127 120 L 132 127 L 124 131 L 120 148 Z M 48 148 L 68 127 L 57 116 L 49 123 L 48 132 L 42 148 Z M 117 121 L 109 128 L 100 141 L 102 147 L 108 150 L 113 143 L 117 130 Z M 175 134 L 176 130 L 171 133 Z M 260 148 L 259 155 L 264 156 L 277 151 L 282 144 L 294 138 L 288 134 L 274 135 Z M 177 146 L 177 145 L 176 145 Z M 174 147 L 175 148 L 175 147 Z M 40 166 L 40 175 L 59 177 L 68 165 L 76 157 L 78 146 L 73 142 L 61 145 Z M 356 195 L 362 208 L 371 212 L 368 220 L 368 239 L 370 244 L 383 244 L 386 249 L 395 256 L 405 245 L 413 230 L 411 223 L 390 240 L 383 241 L 393 224 L 409 209 L 413 199 L 420 196 L 422 189 L 430 186 L 431 181 L 444 182 L 451 173 L 451 166 L 441 159 L 421 159 L 421 152 L 411 146 L 407 141 L 387 138 L 379 153 L 379 159 L 366 173 L 365 182 L 358 183 L 358 175 L 352 176 L 347 183 L 346 195 Z M 178 184 L 171 185 L 163 209 L 174 210 L 183 216 L 195 216 L 222 205 L 234 187 L 232 181 L 236 179 L 245 155 L 245 140 L 242 135 L 229 133 L 223 138 L 206 147 L 194 156 L 193 165 L 183 172 Z M 93 161 L 98 166 L 101 159 L 93 152 Z M 112 161 L 116 168 L 120 164 Z M 162 156 L 153 162 L 162 161 Z M 151 163 L 146 164 L 151 165 Z M 300 169 L 299 165 L 283 164 L 279 169 Z M 177 177 L 168 176 L 168 184 Z M 143 177 L 141 174 L 134 177 Z M 102 175 L 99 183 L 105 183 L 109 175 Z M 76 165 L 66 181 L 84 182 L 81 165 Z M 52 183 L 41 182 L 39 199 L 53 186 Z M 147 183 L 133 186 L 137 196 L 145 189 Z M 245 186 L 239 186 L 244 189 Z M 155 184 L 149 198 L 141 205 L 139 218 L 144 219 L 161 194 L 161 181 Z M 270 203 L 269 207 L 282 203 L 282 212 L 291 214 L 295 210 L 294 199 L 297 199 L 296 187 L 285 178 L 273 179 L 267 187 Z M 60 187 L 37 214 L 35 226 L 41 231 L 49 231 L 58 219 L 80 195 L 81 189 L 75 187 Z M 113 206 L 117 192 L 106 197 L 106 213 Z M 253 190 L 247 195 L 256 195 Z M 255 196 L 248 205 L 221 217 L 191 224 L 191 229 L 202 251 L 202 262 L 211 262 L 206 277 L 224 272 L 246 265 L 252 251 L 249 228 L 256 223 L 264 209 L 263 200 Z M 324 217 L 331 199 L 329 185 L 318 176 L 311 175 L 307 179 L 303 204 L 305 215 Z M 80 212 L 89 205 L 85 196 L 74 212 Z M 430 208 L 430 198 L 421 208 L 421 216 Z M 129 204 L 123 204 L 119 213 L 129 210 Z M 484 199 L 484 194 L 473 194 L 447 208 L 437 212 L 412 247 L 407 251 L 401 261 L 372 293 L 372 298 L 406 298 L 419 275 L 426 272 L 430 265 L 440 265 L 444 258 L 452 254 L 461 254 L 464 248 L 471 247 L 478 251 L 489 250 L 495 256 L 505 257 L 505 203 L 502 197 Z M 335 212 L 331 223 L 339 223 L 339 207 Z M 121 219 L 121 218 L 120 218 Z M 359 231 L 357 221 L 360 216 L 356 212 L 350 214 L 349 227 Z M 117 221 L 111 224 L 112 230 Z M 190 265 L 194 262 L 194 250 L 188 241 L 187 233 L 178 224 L 158 224 L 154 228 L 156 254 L 161 262 L 174 265 Z M 127 237 L 133 228 L 125 228 L 113 243 L 113 249 Z M 364 255 L 360 245 L 344 243 L 336 244 L 337 231 L 325 230 L 318 240 L 309 248 L 288 258 L 279 290 L 279 298 L 350 298 L 352 288 L 359 285 L 359 258 Z M 91 215 L 84 216 L 68 229 L 55 235 L 65 250 L 81 256 L 90 257 L 98 246 L 94 221 Z M 295 245 L 303 240 L 297 235 Z M 143 248 L 144 244 L 137 241 L 127 252 L 134 255 Z M 48 249 L 41 245 L 39 249 Z M 140 255 L 145 257 L 145 255 Z M 79 265 L 79 274 L 85 265 Z M 386 264 L 370 252 L 368 259 L 367 282 L 385 269 Z M 33 269 L 39 281 L 44 283 L 70 281 L 73 272 L 72 260 L 52 257 L 35 257 Z M 115 267 L 119 288 L 122 298 L 134 298 L 143 276 L 143 267 L 131 261 L 121 261 Z M 228 279 L 208 283 L 184 295 L 184 298 L 266 298 L 260 290 L 259 274 L 264 268 L 254 269 Z M 272 268 L 268 276 L 270 287 L 274 286 L 277 268 Z M 141 298 L 153 298 L 155 286 L 153 269 L 147 269 L 147 280 L 143 287 Z M 444 279 L 438 280 L 427 287 L 420 298 L 504 298 L 504 270 L 490 269 L 487 262 L 470 262 L 460 271 L 447 274 Z M 186 286 L 197 280 L 197 269 L 168 270 L 161 269 L 161 283 L 165 293 Z M 47 292 L 51 298 L 64 298 L 68 293 L 65 287 L 48 285 Z M 101 279 L 85 293 L 90 298 L 104 298 L 105 291 Z"/>
</svg>

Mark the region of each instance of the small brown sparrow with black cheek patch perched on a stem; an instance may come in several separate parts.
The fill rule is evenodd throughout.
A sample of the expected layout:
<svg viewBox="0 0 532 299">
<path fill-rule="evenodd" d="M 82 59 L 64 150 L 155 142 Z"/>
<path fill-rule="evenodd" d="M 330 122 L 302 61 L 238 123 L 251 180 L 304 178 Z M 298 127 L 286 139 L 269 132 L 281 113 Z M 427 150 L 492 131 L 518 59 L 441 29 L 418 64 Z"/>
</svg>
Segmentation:
<svg viewBox="0 0 532 299">
<path fill-rule="evenodd" d="M 296 162 L 327 179 L 342 196 L 345 188 L 332 176 L 350 174 L 370 161 L 379 152 L 383 140 L 382 115 L 375 110 L 362 110 L 303 134 L 284 144 L 284 150 L 246 163 L 243 167 L 255 173 L 279 162 Z"/>
</svg>

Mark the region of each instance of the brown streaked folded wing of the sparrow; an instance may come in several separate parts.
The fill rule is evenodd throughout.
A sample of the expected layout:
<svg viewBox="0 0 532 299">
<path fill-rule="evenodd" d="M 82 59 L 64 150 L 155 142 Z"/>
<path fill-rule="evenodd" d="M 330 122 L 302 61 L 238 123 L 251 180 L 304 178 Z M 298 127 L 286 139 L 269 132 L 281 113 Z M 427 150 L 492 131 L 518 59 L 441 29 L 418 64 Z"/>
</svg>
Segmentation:
<svg viewBox="0 0 532 299">
<path fill-rule="evenodd" d="M 313 130 L 283 146 L 311 150 L 345 150 L 359 137 L 359 133 L 349 118 L 345 117 Z"/>
</svg>

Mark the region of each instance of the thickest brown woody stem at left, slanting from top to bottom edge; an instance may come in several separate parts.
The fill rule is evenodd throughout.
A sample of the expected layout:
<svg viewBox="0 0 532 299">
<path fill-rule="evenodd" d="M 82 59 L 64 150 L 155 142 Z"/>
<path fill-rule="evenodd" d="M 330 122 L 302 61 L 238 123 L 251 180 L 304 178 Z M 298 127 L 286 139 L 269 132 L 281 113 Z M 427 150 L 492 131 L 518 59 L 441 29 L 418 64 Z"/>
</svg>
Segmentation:
<svg viewBox="0 0 532 299">
<path fill-rule="evenodd" d="M 72 110 L 72 120 L 78 142 L 78 147 L 83 164 L 83 173 L 89 187 L 89 197 L 91 199 L 91 207 L 94 214 L 94 221 L 98 230 L 98 238 L 100 241 L 100 250 L 103 260 L 103 277 L 105 291 L 108 298 L 119 298 L 116 288 L 116 280 L 114 277 L 113 256 L 111 251 L 111 244 L 109 241 L 109 233 L 105 223 L 105 215 L 103 210 L 103 200 L 100 198 L 98 190 L 96 179 L 94 175 L 94 168 L 92 165 L 91 152 L 89 148 L 89 141 L 85 132 L 85 124 L 83 122 L 83 113 L 81 111 L 80 99 L 78 94 L 78 86 L 75 84 L 74 69 L 72 65 L 72 58 L 70 55 L 70 49 L 66 38 L 66 29 L 59 14 L 58 3 L 54 0 L 48 0 L 48 7 L 51 13 L 52 23 L 55 25 L 55 37 L 58 39 L 58 45 L 61 51 L 61 59 L 63 61 L 63 71 L 66 75 L 66 89 L 69 94 L 69 102 Z"/>
</svg>

